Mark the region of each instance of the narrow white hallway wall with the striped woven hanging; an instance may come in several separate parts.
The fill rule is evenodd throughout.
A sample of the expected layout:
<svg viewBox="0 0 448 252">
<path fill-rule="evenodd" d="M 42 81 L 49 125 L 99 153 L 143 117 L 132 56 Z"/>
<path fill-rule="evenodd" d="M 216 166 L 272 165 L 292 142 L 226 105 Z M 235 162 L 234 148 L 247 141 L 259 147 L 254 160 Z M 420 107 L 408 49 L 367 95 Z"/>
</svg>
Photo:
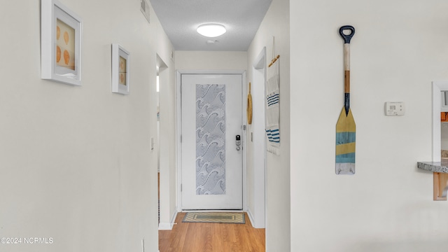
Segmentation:
<svg viewBox="0 0 448 252">
<path fill-rule="evenodd" d="M 248 49 L 248 81 L 253 80 L 252 64 L 263 47 L 266 47 L 267 64 L 270 63 L 272 59 L 272 36 L 275 36 L 275 54 L 280 55 L 281 155 L 267 153 L 266 251 L 290 251 L 290 38 L 288 0 L 272 1 Z M 254 97 L 254 99 L 257 98 Z M 258 108 L 254 109 L 257 110 Z M 250 142 L 249 145 L 251 145 Z M 253 150 L 253 146 L 248 147 L 248 150 Z M 248 159 L 248 171 L 251 170 L 252 165 L 253 162 Z"/>
</svg>

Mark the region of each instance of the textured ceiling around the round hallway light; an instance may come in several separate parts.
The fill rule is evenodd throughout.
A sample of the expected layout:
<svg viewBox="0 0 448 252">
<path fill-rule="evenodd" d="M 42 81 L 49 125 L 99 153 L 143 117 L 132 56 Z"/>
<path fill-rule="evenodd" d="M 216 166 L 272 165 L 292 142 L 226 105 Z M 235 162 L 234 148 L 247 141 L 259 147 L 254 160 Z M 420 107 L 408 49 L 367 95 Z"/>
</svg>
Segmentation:
<svg viewBox="0 0 448 252">
<path fill-rule="evenodd" d="M 150 1 L 175 50 L 246 51 L 272 0 Z M 224 25 L 227 32 L 204 37 L 196 29 L 205 23 Z"/>
</svg>

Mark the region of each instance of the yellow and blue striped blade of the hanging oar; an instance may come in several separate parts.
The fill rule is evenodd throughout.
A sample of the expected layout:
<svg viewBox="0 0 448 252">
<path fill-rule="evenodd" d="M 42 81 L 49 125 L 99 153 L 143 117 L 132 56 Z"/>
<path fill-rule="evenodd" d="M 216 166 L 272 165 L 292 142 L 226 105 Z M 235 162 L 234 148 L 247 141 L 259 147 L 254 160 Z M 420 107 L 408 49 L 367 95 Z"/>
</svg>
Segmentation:
<svg viewBox="0 0 448 252">
<path fill-rule="evenodd" d="M 349 109 L 345 108 L 336 124 L 336 174 L 355 174 L 356 123 Z"/>
</svg>

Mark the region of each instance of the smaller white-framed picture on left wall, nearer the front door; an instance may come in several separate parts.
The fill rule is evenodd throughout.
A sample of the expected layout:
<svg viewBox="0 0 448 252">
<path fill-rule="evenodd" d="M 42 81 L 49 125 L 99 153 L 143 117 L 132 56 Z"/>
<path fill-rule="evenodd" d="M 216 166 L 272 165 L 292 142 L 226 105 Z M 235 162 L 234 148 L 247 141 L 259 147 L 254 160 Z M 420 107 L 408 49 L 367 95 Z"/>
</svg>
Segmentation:
<svg viewBox="0 0 448 252">
<path fill-rule="evenodd" d="M 130 53 L 117 43 L 112 44 L 112 92 L 129 94 Z"/>
</svg>

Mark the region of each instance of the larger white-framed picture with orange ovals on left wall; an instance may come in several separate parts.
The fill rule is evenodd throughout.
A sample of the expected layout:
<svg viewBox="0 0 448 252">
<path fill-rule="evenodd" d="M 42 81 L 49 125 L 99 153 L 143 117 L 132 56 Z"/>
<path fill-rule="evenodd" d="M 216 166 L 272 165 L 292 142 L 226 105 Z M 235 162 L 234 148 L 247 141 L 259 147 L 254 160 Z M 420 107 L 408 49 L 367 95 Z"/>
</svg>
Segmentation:
<svg viewBox="0 0 448 252">
<path fill-rule="evenodd" d="M 81 85 L 80 17 L 57 0 L 41 0 L 41 78 Z"/>
</svg>

